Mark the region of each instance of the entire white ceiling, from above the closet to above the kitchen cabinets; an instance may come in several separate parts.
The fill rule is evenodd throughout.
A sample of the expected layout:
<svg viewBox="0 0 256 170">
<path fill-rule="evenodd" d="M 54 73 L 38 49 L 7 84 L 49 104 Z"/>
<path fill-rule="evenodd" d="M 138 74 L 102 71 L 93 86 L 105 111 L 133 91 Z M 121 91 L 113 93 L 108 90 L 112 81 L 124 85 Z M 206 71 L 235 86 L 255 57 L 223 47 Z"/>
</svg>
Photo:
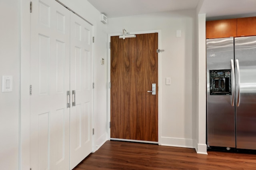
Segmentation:
<svg viewBox="0 0 256 170">
<path fill-rule="evenodd" d="M 256 16 L 256 0 L 88 0 L 108 18 L 200 7 L 206 19 Z"/>
</svg>

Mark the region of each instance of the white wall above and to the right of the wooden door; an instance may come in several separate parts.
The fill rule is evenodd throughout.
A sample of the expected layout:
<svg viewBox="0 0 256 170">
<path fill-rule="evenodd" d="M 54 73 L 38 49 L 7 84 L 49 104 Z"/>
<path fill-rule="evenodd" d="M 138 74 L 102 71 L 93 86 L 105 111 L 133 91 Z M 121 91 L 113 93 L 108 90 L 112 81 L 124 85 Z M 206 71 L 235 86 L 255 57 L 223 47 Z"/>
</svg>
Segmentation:
<svg viewBox="0 0 256 170">
<path fill-rule="evenodd" d="M 196 125 L 196 11 L 108 19 L 108 33 L 161 30 L 161 144 L 193 148 Z M 176 30 L 182 37 L 176 38 Z M 171 77 L 171 85 L 165 78 Z"/>
</svg>

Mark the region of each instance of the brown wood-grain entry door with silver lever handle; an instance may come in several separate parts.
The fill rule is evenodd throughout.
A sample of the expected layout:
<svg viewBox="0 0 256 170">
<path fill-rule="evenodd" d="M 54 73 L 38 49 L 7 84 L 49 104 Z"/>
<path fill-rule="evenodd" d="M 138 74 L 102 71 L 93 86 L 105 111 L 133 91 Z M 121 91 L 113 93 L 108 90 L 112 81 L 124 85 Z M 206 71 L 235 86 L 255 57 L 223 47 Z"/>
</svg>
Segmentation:
<svg viewBox="0 0 256 170">
<path fill-rule="evenodd" d="M 110 137 L 157 142 L 158 33 L 110 42 Z"/>
</svg>

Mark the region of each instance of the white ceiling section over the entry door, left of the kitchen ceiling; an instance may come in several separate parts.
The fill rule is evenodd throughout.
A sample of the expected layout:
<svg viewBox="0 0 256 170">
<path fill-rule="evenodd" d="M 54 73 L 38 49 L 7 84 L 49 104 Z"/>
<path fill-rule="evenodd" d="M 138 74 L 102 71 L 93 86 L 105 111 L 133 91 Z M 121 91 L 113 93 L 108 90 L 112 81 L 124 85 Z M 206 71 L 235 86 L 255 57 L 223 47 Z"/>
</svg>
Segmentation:
<svg viewBox="0 0 256 170">
<path fill-rule="evenodd" d="M 199 0 L 88 0 L 108 18 L 195 9 Z"/>
</svg>

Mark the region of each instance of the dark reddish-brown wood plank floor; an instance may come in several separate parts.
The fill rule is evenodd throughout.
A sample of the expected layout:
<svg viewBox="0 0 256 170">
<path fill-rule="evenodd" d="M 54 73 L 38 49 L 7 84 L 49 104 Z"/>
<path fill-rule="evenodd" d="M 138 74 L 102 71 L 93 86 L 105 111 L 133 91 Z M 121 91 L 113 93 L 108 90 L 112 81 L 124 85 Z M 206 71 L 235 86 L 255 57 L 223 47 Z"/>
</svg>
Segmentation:
<svg viewBox="0 0 256 170">
<path fill-rule="evenodd" d="M 256 155 L 107 141 L 73 170 L 255 170 Z"/>
</svg>

